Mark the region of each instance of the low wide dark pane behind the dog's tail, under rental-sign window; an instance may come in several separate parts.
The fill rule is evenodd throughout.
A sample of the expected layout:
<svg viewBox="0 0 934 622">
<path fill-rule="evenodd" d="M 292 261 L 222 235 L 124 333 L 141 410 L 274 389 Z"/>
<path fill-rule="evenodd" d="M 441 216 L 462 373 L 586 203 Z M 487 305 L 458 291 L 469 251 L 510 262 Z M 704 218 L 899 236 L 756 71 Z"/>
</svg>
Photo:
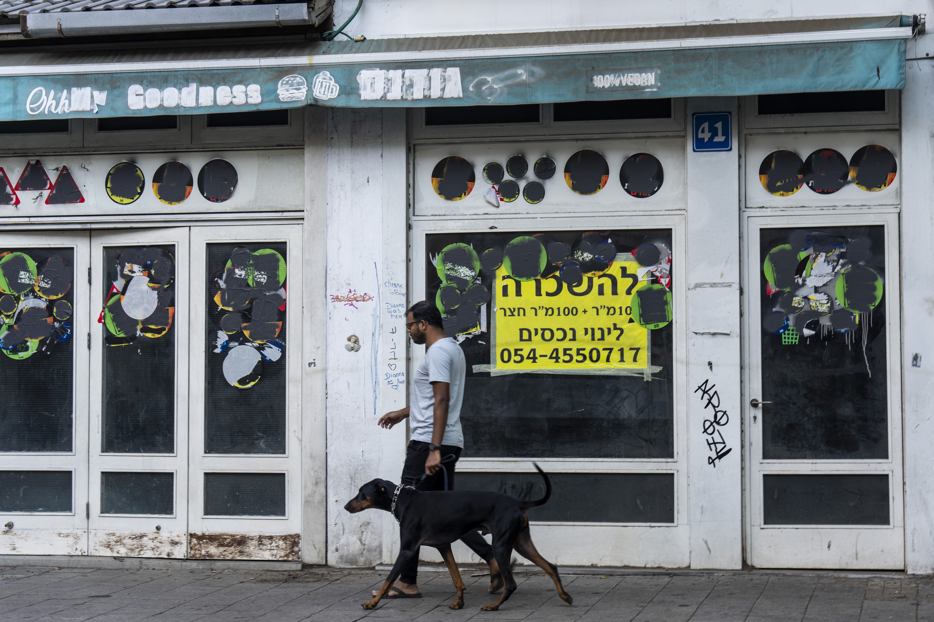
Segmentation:
<svg viewBox="0 0 934 622">
<path fill-rule="evenodd" d="M 490 490 L 532 501 L 545 496 L 535 473 L 458 473 L 458 490 Z M 551 499 L 529 520 L 574 523 L 673 523 L 674 474 L 553 473 Z M 595 503 L 595 499 L 601 502 Z"/>
</svg>

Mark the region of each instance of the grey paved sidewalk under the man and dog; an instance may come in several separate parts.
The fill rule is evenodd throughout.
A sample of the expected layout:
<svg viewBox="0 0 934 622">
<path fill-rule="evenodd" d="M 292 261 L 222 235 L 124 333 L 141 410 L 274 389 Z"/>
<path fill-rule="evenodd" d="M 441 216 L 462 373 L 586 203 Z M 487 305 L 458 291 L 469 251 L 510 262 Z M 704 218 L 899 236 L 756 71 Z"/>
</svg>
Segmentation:
<svg viewBox="0 0 934 622">
<path fill-rule="evenodd" d="M 593 572 L 596 569 L 587 569 Z M 301 572 L 205 570 L 85 570 L 37 566 L 0 569 L 0 622 L 378 622 L 518 620 L 536 622 L 934 622 L 934 580 L 854 578 L 832 573 L 566 574 L 573 606 L 560 601 L 542 574 L 517 576 L 518 589 L 498 612 L 488 577 L 463 573 L 460 611 L 447 573 L 421 573 L 424 598 L 361 602 L 385 573 L 316 568 Z M 517 573 L 521 573 L 518 571 Z M 374 621 L 376 622 L 376 620 Z"/>
</svg>

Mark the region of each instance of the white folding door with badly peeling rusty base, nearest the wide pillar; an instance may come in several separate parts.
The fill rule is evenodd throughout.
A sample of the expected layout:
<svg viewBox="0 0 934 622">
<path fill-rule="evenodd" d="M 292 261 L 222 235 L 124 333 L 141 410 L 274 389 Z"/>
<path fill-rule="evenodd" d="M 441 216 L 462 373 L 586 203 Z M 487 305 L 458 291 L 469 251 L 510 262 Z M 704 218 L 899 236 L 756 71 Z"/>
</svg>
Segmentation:
<svg viewBox="0 0 934 622">
<path fill-rule="evenodd" d="M 300 558 L 301 244 L 191 229 L 191 558 Z"/>
</svg>

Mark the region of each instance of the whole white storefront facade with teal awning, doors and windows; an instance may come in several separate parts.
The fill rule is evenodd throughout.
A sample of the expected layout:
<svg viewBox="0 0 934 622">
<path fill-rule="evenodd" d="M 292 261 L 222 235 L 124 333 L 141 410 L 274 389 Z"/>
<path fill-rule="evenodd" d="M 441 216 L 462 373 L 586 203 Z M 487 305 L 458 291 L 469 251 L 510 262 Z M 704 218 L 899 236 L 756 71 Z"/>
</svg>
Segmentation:
<svg viewBox="0 0 934 622">
<path fill-rule="evenodd" d="M 0 555 L 393 560 L 429 299 L 555 563 L 934 572 L 927 3 L 548 7 L 0 49 Z"/>
</svg>

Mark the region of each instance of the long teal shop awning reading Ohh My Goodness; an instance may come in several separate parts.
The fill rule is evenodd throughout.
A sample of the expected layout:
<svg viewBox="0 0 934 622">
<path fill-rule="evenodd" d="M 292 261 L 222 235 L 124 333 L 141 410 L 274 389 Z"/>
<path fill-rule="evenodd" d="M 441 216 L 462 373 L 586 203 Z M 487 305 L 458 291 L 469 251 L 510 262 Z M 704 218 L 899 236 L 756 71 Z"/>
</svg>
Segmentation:
<svg viewBox="0 0 934 622">
<path fill-rule="evenodd" d="M 211 53 L 201 61 L 154 53 L 145 62 L 56 56 L 57 64 L 28 65 L 0 57 L 0 120 L 901 89 L 905 64 L 900 38 L 496 58 L 452 51 L 378 64 L 365 54 Z"/>
</svg>

